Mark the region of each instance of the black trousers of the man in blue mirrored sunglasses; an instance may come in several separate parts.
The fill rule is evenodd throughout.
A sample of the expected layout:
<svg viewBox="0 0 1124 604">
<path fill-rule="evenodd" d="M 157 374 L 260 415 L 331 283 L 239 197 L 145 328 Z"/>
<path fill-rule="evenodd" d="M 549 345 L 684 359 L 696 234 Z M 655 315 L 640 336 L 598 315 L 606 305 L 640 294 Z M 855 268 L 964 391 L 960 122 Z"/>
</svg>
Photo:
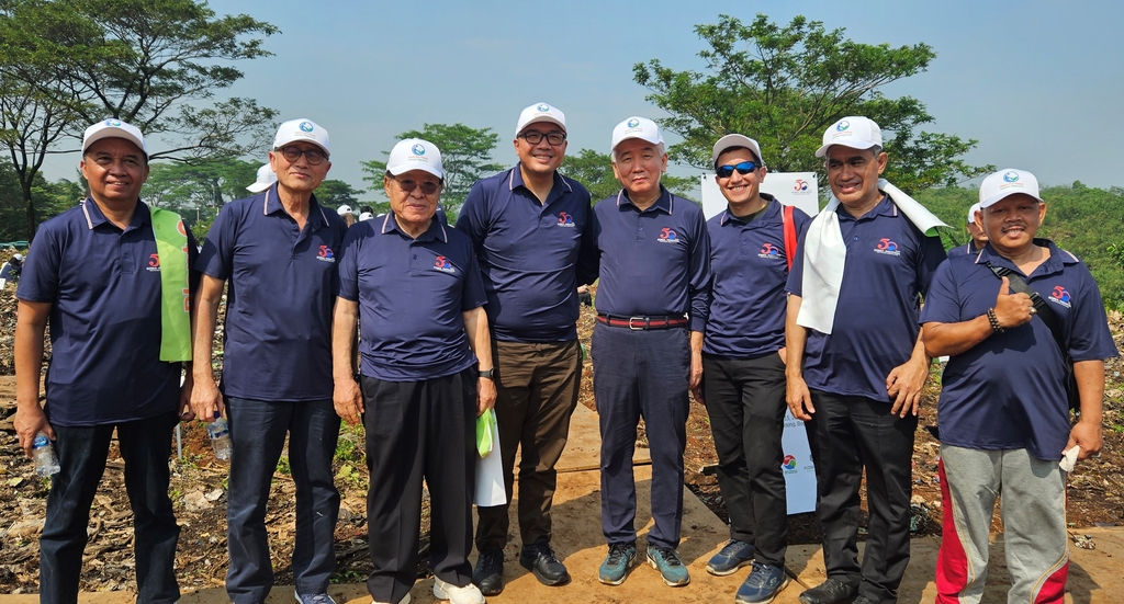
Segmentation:
<svg viewBox="0 0 1124 604">
<path fill-rule="evenodd" d="M 704 399 L 718 452 L 718 487 L 729 538 L 752 543 L 759 562 L 785 566 L 788 498 L 785 448 L 785 363 L 703 355 Z"/>
</svg>

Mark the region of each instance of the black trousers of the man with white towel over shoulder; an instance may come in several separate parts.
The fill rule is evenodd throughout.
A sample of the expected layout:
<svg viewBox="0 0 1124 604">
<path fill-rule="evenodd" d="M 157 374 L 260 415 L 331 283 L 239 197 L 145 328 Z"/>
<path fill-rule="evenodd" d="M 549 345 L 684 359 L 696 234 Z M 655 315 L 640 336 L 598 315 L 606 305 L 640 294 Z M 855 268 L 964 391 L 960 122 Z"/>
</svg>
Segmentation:
<svg viewBox="0 0 1124 604">
<path fill-rule="evenodd" d="M 890 403 L 812 391 L 806 424 L 816 465 L 816 518 L 827 576 L 859 585 L 872 602 L 897 602 L 909 564 L 909 497 L 917 417 Z M 859 566 L 859 485 L 867 470 L 867 551 Z"/>
</svg>

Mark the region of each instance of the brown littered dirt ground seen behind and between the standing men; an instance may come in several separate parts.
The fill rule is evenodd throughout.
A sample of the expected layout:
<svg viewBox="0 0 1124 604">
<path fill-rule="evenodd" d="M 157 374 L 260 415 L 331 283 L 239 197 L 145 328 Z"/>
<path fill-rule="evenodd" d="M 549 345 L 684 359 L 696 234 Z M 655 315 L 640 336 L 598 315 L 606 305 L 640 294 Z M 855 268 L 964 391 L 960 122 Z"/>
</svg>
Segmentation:
<svg viewBox="0 0 1124 604">
<path fill-rule="evenodd" d="M 12 341 L 16 323 L 12 287 L 0 292 L 0 593 L 34 593 L 38 585 L 38 539 L 49 482 L 35 476 L 30 463 L 18 448 L 11 430 L 15 412 Z M 589 344 L 593 314 L 582 309 L 579 323 L 582 340 Z M 1124 315 L 1109 313 L 1117 347 L 1124 349 Z M 587 362 L 581 403 L 593 409 L 591 370 Z M 1080 464 L 1069 478 L 1069 522 L 1078 534 L 1086 527 L 1124 525 L 1124 363 L 1112 359 L 1106 367 L 1105 447 L 1099 459 Z M 921 425 L 935 424 L 940 369 L 934 366 L 926 386 Z M 171 495 L 182 525 L 178 576 L 184 589 L 223 585 L 226 566 L 225 503 L 227 466 L 215 460 L 206 431 L 199 422 L 182 424 L 182 458 L 172 460 Z M 643 428 L 641 446 L 645 446 Z M 337 573 L 335 583 L 362 583 L 371 569 L 366 556 L 365 492 L 361 428 L 345 428 L 336 454 L 336 484 L 342 505 L 336 525 Z M 174 445 L 173 445 L 174 447 Z M 940 483 L 936 475 L 937 442 L 925 430 L 917 432 L 914 451 L 914 512 L 916 534 L 940 534 Z M 719 518 L 726 512 L 714 465 L 717 459 L 706 411 L 691 403 L 685 456 L 687 486 Z M 91 510 L 90 543 L 85 549 L 82 589 L 90 592 L 127 589 L 134 585 L 132 513 L 125 496 L 121 464 L 116 450 Z M 292 584 L 289 564 L 293 544 L 294 495 L 282 459 L 274 474 L 266 515 L 277 584 Z M 865 519 L 861 522 L 864 524 Z M 996 529 L 1001 529 L 998 519 Z M 427 530 L 426 527 L 423 528 Z M 818 528 L 812 514 L 790 519 L 791 542 L 816 543 Z M 426 550 L 423 536 L 422 549 Z M 420 565 L 419 576 L 428 571 Z"/>
</svg>

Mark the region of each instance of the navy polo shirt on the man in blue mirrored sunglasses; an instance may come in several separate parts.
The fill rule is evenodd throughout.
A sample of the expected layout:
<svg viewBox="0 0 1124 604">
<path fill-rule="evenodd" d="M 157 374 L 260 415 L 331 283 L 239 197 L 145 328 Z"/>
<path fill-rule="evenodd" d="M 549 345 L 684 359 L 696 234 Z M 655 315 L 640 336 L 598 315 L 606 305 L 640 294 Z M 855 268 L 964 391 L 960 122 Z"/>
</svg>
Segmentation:
<svg viewBox="0 0 1124 604">
<path fill-rule="evenodd" d="M 785 284 L 794 250 L 785 247 L 783 205 L 768 193 L 761 196 L 769 204 L 750 222 L 726 210 L 706 223 L 714 285 L 703 351 L 709 355 L 758 358 L 785 346 Z M 798 240 L 810 222 L 794 209 Z"/>
</svg>

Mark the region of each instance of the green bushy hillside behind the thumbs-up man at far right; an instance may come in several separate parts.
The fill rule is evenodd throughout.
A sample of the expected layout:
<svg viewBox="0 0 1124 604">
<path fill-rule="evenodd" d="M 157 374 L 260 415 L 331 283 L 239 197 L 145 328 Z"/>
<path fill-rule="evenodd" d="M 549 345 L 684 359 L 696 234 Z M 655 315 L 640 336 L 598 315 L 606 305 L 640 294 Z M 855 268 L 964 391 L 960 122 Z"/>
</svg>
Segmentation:
<svg viewBox="0 0 1124 604">
<path fill-rule="evenodd" d="M 964 221 L 968 208 L 979 201 L 977 189 L 932 189 L 916 199 L 953 227 L 941 234 L 946 248 L 968 242 Z M 1043 189 L 1042 199 L 1046 218 L 1039 236 L 1081 258 L 1100 285 L 1105 305 L 1124 310 L 1124 269 L 1108 253 L 1108 246 L 1124 242 L 1124 189 L 1106 191 L 1075 182 Z"/>
</svg>

